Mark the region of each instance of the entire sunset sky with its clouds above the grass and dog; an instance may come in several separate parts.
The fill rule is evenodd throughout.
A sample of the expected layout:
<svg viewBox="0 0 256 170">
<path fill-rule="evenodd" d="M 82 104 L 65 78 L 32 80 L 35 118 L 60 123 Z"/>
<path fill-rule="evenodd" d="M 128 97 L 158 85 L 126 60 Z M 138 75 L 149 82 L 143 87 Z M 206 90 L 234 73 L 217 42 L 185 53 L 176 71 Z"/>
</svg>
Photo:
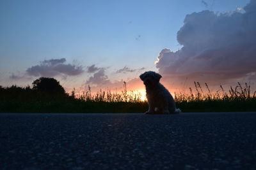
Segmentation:
<svg viewBox="0 0 256 170">
<path fill-rule="evenodd" d="M 0 85 L 171 91 L 256 80 L 256 0 L 0 1 Z"/>
</svg>

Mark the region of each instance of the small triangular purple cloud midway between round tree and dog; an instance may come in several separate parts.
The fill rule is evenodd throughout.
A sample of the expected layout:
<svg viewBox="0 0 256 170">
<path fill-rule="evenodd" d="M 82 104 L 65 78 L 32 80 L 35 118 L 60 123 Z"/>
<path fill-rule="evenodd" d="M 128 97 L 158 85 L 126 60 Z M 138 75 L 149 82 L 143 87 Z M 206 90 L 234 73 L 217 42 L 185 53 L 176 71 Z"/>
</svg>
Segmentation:
<svg viewBox="0 0 256 170">
<path fill-rule="evenodd" d="M 106 85 L 111 83 L 108 80 L 108 76 L 105 74 L 104 69 L 100 69 L 97 73 L 94 73 L 93 76 L 89 78 L 89 80 L 86 81 L 86 84 L 92 84 L 92 85 Z"/>
</svg>

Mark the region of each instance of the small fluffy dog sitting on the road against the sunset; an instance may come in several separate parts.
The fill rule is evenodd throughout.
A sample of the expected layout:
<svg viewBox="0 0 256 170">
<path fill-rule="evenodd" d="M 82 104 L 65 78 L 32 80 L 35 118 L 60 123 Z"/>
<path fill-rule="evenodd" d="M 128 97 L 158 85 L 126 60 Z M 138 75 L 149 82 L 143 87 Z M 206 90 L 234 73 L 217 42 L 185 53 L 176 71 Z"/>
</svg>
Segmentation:
<svg viewBox="0 0 256 170">
<path fill-rule="evenodd" d="M 146 114 L 180 113 L 170 92 L 159 82 L 162 76 L 154 71 L 146 71 L 140 75 L 146 87 L 148 111 Z"/>
</svg>

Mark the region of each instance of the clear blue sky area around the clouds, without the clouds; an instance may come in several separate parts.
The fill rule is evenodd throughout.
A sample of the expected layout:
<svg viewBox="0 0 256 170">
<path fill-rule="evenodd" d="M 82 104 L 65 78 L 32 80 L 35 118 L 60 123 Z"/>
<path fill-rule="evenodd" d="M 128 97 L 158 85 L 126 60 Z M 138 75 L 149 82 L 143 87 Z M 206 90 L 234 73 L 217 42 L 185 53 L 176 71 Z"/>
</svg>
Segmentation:
<svg viewBox="0 0 256 170">
<path fill-rule="evenodd" d="M 0 85 L 26 85 L 22 76 L 44 60 L 104 67 L 109 80 L 131 79 L 136 73 L 113 74 L 127 66 L 157 71 L 164 48 L 182 48 L 177 31 L 186 15 L 202 10 L 234 11 L 247 0 L 212 1 L 0 1 Z M 79 86 L 92 74 L 67 76 Z M 35 78 L 34 78 L 35 80 Z M 60 79 L 61 80 L 61 79 Z M 28 83 L 29 82 L 29 83 Z"/>
</svg>

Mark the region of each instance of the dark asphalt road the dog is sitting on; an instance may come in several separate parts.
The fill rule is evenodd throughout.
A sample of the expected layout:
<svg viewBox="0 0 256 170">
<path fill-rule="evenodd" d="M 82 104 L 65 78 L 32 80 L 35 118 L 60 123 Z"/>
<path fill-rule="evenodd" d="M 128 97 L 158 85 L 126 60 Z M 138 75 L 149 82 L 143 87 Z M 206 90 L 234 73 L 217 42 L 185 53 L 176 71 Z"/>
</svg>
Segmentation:
<svg viewBox="0 0 256 170">
<path fill-rule="evenodd" d="M 256 113 L 0 113 L 0 169 L 256 169 Z"/>
</svg>

